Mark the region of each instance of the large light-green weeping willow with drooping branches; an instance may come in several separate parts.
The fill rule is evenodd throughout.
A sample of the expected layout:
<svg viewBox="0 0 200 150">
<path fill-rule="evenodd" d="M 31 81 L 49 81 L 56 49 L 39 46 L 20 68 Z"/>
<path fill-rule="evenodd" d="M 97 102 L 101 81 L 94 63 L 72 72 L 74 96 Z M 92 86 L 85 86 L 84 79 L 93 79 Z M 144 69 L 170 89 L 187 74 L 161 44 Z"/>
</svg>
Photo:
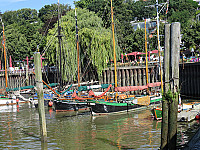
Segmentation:
<svg viewBox="0 0 200 150">
<path fill-rule="evenodd" d="M 80 60 L 82 73 L 88 65 L 92 66 L 99 76 L 102 70 L 107 67 L 109 60 L 113 59 L 112 32 L 103 27 L 101 18 L 86 9 L 77 9 L 78 34 L 80 47 Z M 47 57 L 52 64 L 62 62 L 62 78 L 65 81 L 76 80 L 77 73 L 77 48 L 76 48 L 76 28 L 75 11 L 69 11 L 61 18 L 62 28 L 62 50 L 58 49 L 58 40 L 54 38 L 57 33 L 57 26 L 49 31 L 47 43 L 51 43 L 48 48 Z M 51 40 L 54 39 L 54 42 Z M 119 58 L 119 47 L 116 46 L 117 57 Z M 58 65 L 60 66 L 60 64 Z"/>
</svg>

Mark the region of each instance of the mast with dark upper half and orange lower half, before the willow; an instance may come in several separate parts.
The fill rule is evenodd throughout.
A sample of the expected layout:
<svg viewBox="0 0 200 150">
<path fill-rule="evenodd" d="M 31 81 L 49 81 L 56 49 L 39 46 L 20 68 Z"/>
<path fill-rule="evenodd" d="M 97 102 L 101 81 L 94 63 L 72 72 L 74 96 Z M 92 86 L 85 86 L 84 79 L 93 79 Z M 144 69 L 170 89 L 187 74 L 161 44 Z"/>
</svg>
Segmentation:
<svg viewBox="0 0 200 150">
<path fill-rule="evenodd" d="M 78 25 L 77 25 L 77 14 L 75 8 L 75 19 L 76 19 L 76 48 L 77 48 L 77 68 L 78 68 L 78 87 L 80 87 L 80 62 L 79 62 L 79 41 L 78 41 Z"/>
</svg>

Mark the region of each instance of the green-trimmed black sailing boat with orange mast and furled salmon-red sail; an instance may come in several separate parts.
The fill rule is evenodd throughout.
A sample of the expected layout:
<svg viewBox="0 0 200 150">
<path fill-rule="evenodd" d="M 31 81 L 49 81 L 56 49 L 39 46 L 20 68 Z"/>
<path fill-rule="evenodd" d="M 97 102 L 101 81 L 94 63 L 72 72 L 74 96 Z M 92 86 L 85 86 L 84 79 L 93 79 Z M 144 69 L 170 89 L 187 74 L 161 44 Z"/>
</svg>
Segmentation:
<svg viewBox="0 0 200 150">
<path fill-rule="evenodd" d="M 120 94 L 118 92 L 136 91 L 148 89 L 148 87 L 159 86 L 160 83 L 148 83 L 143 86 L 129 86 L 129 87 L 117 87 L 117 71 L 116 71 L 116 53 L 115 53 L 115 38 L 114 38 L 114 21 L 113 21 L 113 7 L 111 0 L 111 18 L 112 18 L 112 34 L 113 34 L 113 52 L 114 52 L 114 71 L 115 71 L 115 95 L 114 99 L 107 97 L 106 99 L 99 99 L 95 103 L 91 103 L 92 115 L 105 115 L 112 113 L 124 113 L 135 110 L 143 106 L 149 106 L 151 104 L 160 103 L 161 96 L 135 96 Z M 147 54 L 146 54 L 147 56 Z M 146 59 L 147 62 L 147 59 Z M 147 64 L 147 63 L 146 63 Z M 147 65 L 146 65 L 147 67 Z M 148 74 L 148 72 L 147 72 Z M 147 77 L 148 78 L 148 77 Z"/>
</svg>

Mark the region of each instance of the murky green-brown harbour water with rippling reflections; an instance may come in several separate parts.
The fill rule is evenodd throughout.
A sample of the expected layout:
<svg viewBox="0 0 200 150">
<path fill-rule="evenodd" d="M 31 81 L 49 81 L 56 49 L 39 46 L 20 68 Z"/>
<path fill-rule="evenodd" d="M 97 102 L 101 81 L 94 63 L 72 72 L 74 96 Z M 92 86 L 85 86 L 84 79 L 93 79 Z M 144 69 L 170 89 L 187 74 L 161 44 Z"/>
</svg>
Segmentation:
<svg viewBox="0 0 200 150">
<path fill-rule="evenodd" d="M 1 106 L 0 149 L 158 149 L 161 122 L 152 120 L 150 114 L 150 110 L 142 110 L 67 117 L 46 109 L 48 142 L 41 144 L 37 109 L 29 104 Z"/>
</svg>

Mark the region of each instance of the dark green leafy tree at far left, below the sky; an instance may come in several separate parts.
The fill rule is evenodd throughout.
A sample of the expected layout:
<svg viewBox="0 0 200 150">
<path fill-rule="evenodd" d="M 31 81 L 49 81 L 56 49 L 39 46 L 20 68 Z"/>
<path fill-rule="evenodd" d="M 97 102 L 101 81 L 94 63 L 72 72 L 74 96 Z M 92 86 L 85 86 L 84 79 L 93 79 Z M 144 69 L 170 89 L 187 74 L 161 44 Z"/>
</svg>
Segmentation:
<svg viewBox="0 0 200 150">
<path fill-rule="evenodd" d="M 3 14 L 3 22 L 7 52 L 14 60 L 31 57 L 37 50 L 37 45 L 40 45 L 40 49 L 45 46 L 45 38 L 41 41 L 40 34 L 43 24 L 38 19 L 35 9 L 7 11 Z"/>
</svg>

